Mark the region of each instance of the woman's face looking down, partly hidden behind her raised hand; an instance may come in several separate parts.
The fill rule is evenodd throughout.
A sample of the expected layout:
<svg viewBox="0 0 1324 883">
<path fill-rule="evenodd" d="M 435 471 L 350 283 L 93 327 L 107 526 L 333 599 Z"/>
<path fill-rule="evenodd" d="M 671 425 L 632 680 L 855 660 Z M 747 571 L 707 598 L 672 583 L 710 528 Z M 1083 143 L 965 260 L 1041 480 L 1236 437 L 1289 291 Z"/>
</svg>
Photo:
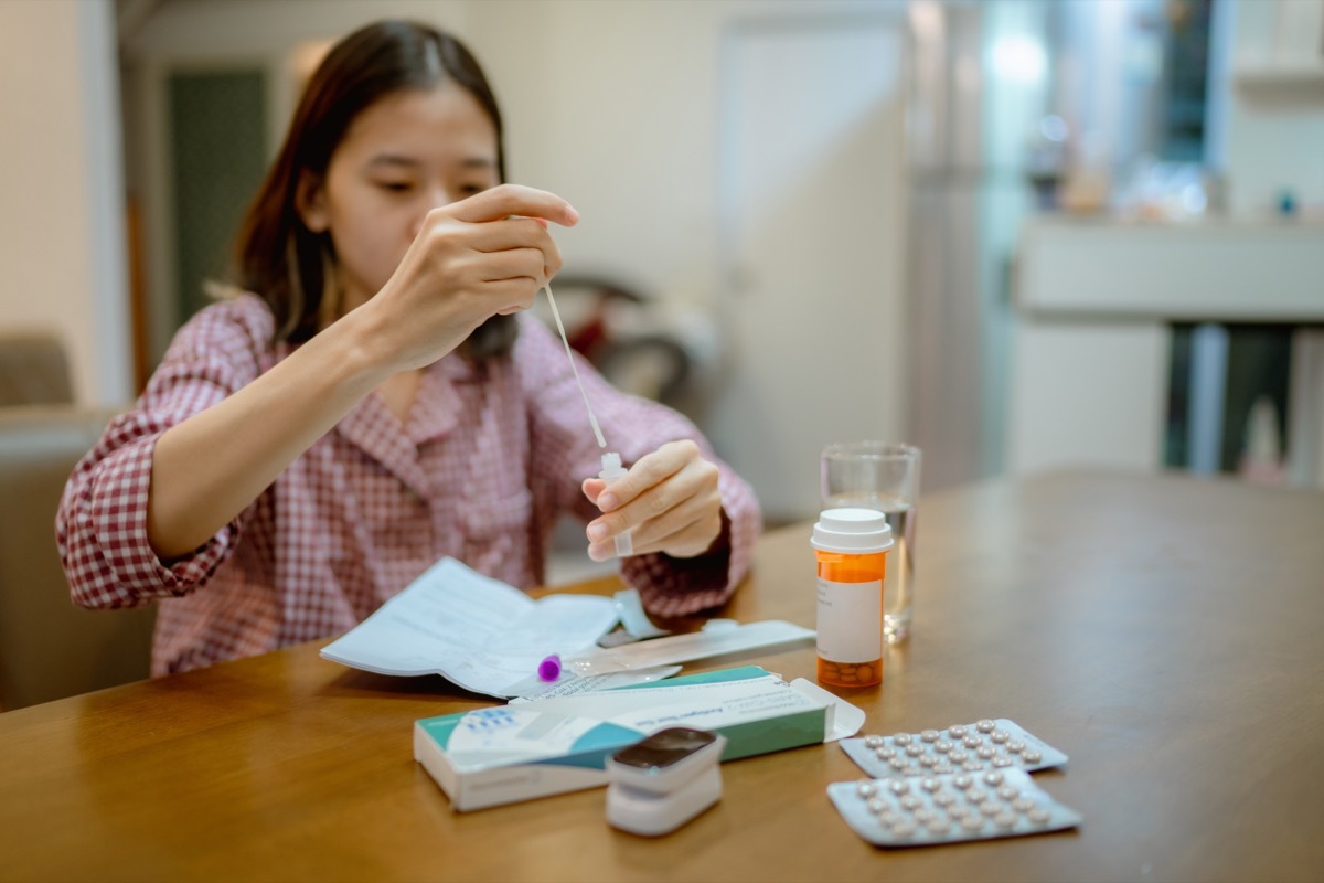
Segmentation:
<svg viewBox="0 0 1324 883">
<path fill-rule="evenodd" d="M 496 127 L 462 86 L 395 91 L 360 113 L 326 180 L 299 192 L 303 222 L 335 245 L 340 312 L 387 283 L 430 209 L 499 183 Z"/>
</svg>

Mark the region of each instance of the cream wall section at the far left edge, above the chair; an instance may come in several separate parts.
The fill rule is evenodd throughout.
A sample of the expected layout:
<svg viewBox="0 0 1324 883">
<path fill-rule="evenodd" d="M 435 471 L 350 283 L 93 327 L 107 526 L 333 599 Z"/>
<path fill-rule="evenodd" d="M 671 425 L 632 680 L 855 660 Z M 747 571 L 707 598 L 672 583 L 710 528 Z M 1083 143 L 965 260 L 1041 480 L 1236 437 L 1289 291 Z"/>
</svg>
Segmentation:
<svg viewBox="0 0 1324 883">
<path fill-rule="evenodd" d="M 0 330 L 50 334 L 74 395 L 134 392 L 115 8 L 0 4 Z"/>
</svg>

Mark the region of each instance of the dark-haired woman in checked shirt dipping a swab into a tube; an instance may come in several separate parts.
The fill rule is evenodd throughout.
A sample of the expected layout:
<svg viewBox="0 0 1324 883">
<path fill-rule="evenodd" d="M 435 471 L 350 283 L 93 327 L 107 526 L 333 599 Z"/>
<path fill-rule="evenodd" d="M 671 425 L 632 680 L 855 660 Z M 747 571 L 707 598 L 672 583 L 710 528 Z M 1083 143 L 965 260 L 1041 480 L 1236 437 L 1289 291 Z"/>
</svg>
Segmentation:
<svg viewBox="0 0 1324 883">
<path fill-rule="evenodd" d="M 75 467 L 57 516 L 74 601 L 160 602 L 152 673 L 339 634 L 450 555 L 544 579 L 563 511 L 657 614 L 722 604 L 748 568 L 753 494 L 698 430 L 587 395 L 518 316 L 560 267 L 559 196 L 503 184 L 478 64 L 425 25 L 328 54 L 237 241 L 236 291 L 176 335 L 132 410 Z"/>
</svg>

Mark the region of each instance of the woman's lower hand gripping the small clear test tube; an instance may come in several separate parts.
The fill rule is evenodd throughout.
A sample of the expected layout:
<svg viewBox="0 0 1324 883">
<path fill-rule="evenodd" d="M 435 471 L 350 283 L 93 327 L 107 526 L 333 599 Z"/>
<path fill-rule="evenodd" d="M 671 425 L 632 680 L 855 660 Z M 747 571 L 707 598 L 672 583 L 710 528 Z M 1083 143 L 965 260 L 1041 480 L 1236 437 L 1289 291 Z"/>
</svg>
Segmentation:
<svg viewBox="0 0 1324 883">
<path fill-rule="evenodd" d="M 584 495 L 602 510 L 587 531 L 594 561 L 614 557 L 613 537 L 622 531 L 630 531 L 636 555 L 673 557 L 703 555 L 722 534 L 718 467 L 688 440 L 662 445 L 610 483 L 585 479 Z"/>
</svg>

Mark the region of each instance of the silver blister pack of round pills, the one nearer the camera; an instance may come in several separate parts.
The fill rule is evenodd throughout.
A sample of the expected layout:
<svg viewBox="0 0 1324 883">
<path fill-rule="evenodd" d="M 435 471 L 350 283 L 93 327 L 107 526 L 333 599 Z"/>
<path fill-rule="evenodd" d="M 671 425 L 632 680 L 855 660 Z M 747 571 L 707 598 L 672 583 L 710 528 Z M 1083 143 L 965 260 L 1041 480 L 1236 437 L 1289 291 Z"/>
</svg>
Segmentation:
<svg viewBox="0 0 1324 883">
<path fill-rule="evenodd" d="M 1080 823 L 1022 769 L 833 782 L 828 797 L 875 846 L 933 846 L 1042 834 Z"/>
</svg>

